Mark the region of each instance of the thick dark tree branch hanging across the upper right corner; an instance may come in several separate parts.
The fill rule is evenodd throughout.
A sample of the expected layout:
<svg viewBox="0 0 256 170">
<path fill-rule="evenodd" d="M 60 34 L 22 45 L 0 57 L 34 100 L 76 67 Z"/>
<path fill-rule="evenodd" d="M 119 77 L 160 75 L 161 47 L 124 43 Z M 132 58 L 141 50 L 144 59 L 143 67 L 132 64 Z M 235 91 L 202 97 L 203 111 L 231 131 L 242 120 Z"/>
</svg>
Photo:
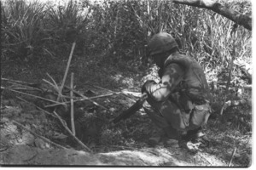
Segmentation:
<svg viewBox="0 0 256 170">
<path fill-rule="evenodd" d="M 236 24 L 244 26 L 247 30 L 252 31 L 252 17 L 240 14 L 231 8 L 227 8 L 221 3 L 212 0 L 173 0 L 173 3 L 185 4 L 198 8 L 207 8 L 215 13 L 221 14 Z"/>
</svg>

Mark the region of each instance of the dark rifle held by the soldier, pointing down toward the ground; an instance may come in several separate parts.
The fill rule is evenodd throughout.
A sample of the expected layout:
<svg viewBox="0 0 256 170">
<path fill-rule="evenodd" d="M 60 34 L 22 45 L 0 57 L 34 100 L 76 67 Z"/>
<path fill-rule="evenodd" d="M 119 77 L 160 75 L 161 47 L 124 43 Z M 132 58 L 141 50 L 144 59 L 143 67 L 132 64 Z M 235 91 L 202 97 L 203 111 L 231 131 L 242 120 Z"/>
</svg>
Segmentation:
<svg viewBox="0 0 256 170">
<path fill-rule="evenodd" d="M 143 103 L 146 99 L 148 99 L 148 94 L 143 93 L 142 97 L 138 99 L 134 105 L 131 105 L 131 107 L 128 110 L 123 111 L 119 116 L 114 118 L 113 123 L 117 123 L 122 119 L 125 120 L 131 115 L 135 114 L 138 110 L 140 110 L 143 107 Z"/>
</svg>

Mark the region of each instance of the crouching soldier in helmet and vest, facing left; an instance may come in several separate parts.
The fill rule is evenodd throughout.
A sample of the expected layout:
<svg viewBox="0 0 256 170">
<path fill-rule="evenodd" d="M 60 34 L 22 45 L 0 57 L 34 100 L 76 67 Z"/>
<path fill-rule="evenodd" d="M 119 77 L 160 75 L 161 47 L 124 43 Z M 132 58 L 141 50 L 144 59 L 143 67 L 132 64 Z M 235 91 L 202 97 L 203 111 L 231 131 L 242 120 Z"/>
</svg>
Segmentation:
<svg viewBox="0 0 256 170">
<path fill-rule="evenodd" d="M 195 59 L 180 54 L 177 42 L 166 32 L 154 35 L 148 42 L 148 52 L 160 67 L 160 82 L 148 80 L 143 84 L 142 93 L 148 94 L 144 111 L 169 139 L 204 139 L 201 126 L 210 116 L 212 97 L 201 66 Z M 158 144 L 161 139 L 158 133 L 149 142 Z"/>
</svg>

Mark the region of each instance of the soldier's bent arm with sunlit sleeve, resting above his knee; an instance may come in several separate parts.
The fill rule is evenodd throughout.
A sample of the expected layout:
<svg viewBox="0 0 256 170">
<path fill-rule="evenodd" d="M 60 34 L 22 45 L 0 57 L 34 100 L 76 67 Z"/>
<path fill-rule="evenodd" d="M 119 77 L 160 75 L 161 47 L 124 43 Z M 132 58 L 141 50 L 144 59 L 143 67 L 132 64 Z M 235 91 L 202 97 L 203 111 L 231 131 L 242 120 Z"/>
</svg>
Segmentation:
<svg viewBox="0 0 256 170">
<path fill-rule="evenodd" d="M 148 94 L 156 101 L 164 101 L 172 93 L 173 89 L 183 80 L 183 68 L 177 64 L 166 66 L 161 81 L 152 84 L 148 89 Z"/>
</svg>

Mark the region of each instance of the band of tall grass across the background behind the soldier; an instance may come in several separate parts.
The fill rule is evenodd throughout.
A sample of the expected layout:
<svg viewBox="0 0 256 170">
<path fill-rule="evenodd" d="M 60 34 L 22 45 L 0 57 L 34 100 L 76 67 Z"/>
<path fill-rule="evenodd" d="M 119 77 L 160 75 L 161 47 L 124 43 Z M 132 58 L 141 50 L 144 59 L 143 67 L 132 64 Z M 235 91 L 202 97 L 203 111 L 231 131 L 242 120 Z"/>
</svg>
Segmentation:
<svg viewBox="0 0 256 170">
<path fill-rule="evenodd" d="M 226 5 L 251 14 L 249 1 Z M 85 11 L 85 13 L 84 13 Z M 2 5 L 2 59 L 58 59 L 73 41 L 82 54 L 105 53 L 113 61 L 147 55 L 148 39 L 166 31 L 182 52 L 206 71 L 221 71 L 233 57 L 249 59 L 251 32 L 219 14 L 170 1 L 69 1 L 63 5 L 5 1 Z M 101 55 L 102 56 L 102 55 Z M 218 71 L 217 71 L 218 72 Z"/>
</svg>

